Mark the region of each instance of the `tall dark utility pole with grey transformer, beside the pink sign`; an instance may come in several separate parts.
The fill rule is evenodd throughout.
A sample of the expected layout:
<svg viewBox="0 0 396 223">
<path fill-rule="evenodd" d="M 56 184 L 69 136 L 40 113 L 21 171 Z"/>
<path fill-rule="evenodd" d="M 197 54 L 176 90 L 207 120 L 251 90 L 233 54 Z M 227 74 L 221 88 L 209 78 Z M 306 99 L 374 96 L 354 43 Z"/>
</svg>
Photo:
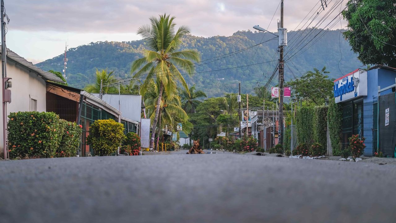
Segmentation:
<svg viewBox="0 0 396 223">
<path fill-rule="evenodd" d="M 281 38 L 283 37 L 283 35 L 281 35 L 281 32 L 284 32 L 283 29 L 283 1 L 281 0 L 280 3 L 280 29 L 279 29 L 279 40 L 280 42 L 284 40 L 282 40 Z M 284 89 L 283 89 L 283 71 L 284 71 L 284 60 L 283 60 L 283 50 L 284 50 L 284 45 L 285 44 L 280 44 L 279 46 L 279 127 L 280 127 L 280 131 L 279 131 L 279 135 L 278 135 L 278 143 L 282 144 L 283 143 L 283 96 L 284 96 Z"/>
</svg>

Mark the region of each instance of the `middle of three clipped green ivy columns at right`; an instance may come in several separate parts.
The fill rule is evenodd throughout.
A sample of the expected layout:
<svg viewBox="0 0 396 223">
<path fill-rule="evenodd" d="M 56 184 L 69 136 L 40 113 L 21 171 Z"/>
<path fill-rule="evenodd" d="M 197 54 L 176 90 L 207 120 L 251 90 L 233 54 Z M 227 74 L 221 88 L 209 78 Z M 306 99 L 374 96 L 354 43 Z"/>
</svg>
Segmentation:
<svg viewBox="0 0 396 223">
<path fill-rule="evenodd" d="M 327 106 L 316 106 L 314 108 L 314 142 L 322 145 L 322 147 L 326 146 L 327 144 L 327 109 Z"/>
</svg>

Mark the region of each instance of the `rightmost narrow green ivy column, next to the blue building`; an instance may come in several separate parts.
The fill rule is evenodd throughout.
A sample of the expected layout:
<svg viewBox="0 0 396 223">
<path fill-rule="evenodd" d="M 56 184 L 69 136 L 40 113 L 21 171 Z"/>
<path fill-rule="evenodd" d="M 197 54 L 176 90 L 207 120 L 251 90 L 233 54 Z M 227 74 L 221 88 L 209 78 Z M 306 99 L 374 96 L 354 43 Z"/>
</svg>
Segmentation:
<svg viewBox="0 0 396 223">
<path fill-rule="evenodd" d="M 341 106 L 335 104 L 334 98 L 329 101 L 327 110 L 327 121 L 329 122 L 329 134 L 333 156 L 341 155 L 341 129 L 343 111 Z"/>
</svg>

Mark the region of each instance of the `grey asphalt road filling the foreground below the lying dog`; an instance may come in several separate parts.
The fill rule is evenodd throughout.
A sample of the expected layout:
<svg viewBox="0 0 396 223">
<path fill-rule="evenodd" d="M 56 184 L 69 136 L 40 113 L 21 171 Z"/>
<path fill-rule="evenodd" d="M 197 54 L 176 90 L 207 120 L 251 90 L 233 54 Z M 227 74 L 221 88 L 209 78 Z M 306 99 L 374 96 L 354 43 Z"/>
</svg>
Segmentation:
<svg viewBox="0 0 396 223">
<path fill-rule="evenodd" d="M 0 222 L 395 222 L 395 176 L 234 154 L 0 161 Z"/>
</svg>

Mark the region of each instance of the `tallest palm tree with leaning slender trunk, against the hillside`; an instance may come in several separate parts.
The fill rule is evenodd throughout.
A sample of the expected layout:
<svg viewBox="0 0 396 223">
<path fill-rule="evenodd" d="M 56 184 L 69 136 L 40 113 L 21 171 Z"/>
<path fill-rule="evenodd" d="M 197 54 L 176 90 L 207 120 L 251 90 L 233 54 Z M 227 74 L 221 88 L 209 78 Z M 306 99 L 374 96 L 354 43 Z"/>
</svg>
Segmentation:
<svg viewBox="0 0 396 223">
<path fill-rule="evenodd" d="M 144 51 L 143 58 L 132 63 L 131 73 L 137 71 L 134 77 L 142 77 L 147 74 L 142 89 L 147 89 L 149 80 L 152 78 L 156 78 L 160 84 L 152 123 L 152 137 L 150 137 L 151 148 L 154 146 L 154 135 L 164 89 L 170 92 L 171 88 L 176 86 L 175 83 L 179 81 L 188 90 L 187 83 L 178 68 L 191 74 L 194 72 L 191 60 L 197 62 L 200 60 L 199 54 L 195 50 L 177 51 L 181 44 L 181 37 L 189 34 L 190 29 L 187 26 L 181 26 L 175 31 L 174 19 L 175 17 L 169 17 L 166 14 L 160 15 L 159 18 L 151 17 L 151 24 L 141 26 L 137 32 L 145 39 L 148 49 Z"/>
</svg>

